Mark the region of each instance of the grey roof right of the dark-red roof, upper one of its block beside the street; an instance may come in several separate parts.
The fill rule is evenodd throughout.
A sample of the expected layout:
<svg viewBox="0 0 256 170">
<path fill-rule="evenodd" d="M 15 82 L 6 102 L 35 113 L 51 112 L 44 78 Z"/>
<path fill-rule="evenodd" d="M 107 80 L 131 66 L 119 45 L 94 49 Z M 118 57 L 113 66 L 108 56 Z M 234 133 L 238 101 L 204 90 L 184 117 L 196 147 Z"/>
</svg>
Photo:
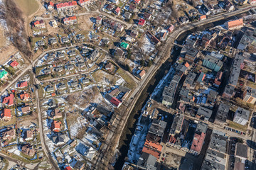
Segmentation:
<svg viewBox="0 0 256 170">
<path fill-rule="evenodd" d="M 225 154 L 226 145 L 227 145 L 227 137 L 223 135 L 218 135 L 217 133 L 213 132 L 210 140 L 209 148 Z"/>
</svg>

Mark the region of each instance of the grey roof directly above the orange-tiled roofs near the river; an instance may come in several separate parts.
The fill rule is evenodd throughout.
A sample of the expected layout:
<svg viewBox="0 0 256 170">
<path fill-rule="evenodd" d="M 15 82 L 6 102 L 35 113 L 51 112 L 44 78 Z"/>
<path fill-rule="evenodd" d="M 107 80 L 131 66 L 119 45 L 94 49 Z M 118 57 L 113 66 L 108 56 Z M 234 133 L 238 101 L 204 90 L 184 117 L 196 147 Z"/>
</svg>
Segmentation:
<svg viewBox="0 0 256 170">
<path fill-rule="evenodd" d="M 164 135 L 164 130 L 166 128 L 167 123 L 163 120 L 154 119 L 150 128 L 149 133 L 157 135 L 159 137 Z"/>
</svg>

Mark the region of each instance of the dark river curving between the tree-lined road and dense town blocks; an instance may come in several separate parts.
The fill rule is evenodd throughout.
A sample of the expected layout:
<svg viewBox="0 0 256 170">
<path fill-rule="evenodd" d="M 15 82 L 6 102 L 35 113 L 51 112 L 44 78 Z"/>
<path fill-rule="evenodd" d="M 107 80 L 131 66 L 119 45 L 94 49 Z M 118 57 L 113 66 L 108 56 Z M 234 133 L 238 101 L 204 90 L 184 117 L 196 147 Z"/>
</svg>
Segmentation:
<svg viewBox="0 0 256 170">
<path fill-rule="evenodd" d="M 206 30 L 207 28 L 212 28 L 213 26 L 220 26 L 225 23 L 225 21 L 234 19 L 234 17 L 227 18 L 222 21 L 217 21 L 214 23 L 209 23 L 206 26 L 201 26 L 199 28 L 194 28 L 193 30 L 189 30 L 186 33 L 181 34 L 176 41 L 178 44 L 182 44 L 184 40 L 186 40 L 186 37 L 196 31 L 200 30 Z M 139 96 L 139 99 L 134 106 L 132 113 L 129 115 L 129 118 L 127 120 L 127 124 L 125 125 L 124 131 L 122 132 L 122 136 L 119 141 L 119 157 L 117 159 L 116 164 L 114 165 L 115 170 L 121 170 L 124 162 L 126 162 L 126 157 L 129 150 L 129 143 L 132 140 L 132 136 L 134 135 L 134 132 L 137 127 L 137 121 L 139 118 L 139 115 L 141 114 L 141 110 L 143 106 L 145 105 L 146 101 L 149 99 L 150 94 L 154 91 L 159 81 L 164 77 L 166 72 L 169 71 L 171 68 L 171 65 L 176 62 L 176 59 L 178 55 L 180 54 L 181 48 L 179 47 L 178 50 L 174 50 L 174 52 L 171 54 L 168 60 L 164 62 L 164 64 L 161 65 L 159 70 L 154 74 L 154 77 L 152 77 L 151 81 L 149 81 L 149 84 L 146 85 L 144 91 L 142 92 L 141 96 Z"/>
</svg>

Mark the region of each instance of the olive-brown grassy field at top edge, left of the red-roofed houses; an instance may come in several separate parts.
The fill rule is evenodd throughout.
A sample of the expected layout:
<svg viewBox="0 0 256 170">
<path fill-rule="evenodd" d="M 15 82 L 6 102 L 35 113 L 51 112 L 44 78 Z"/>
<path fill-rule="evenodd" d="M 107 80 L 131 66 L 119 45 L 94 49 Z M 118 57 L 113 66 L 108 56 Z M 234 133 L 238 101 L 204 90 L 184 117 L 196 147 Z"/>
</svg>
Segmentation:
<svg viewBox="0 0 256 170">
<path fill-rule="evenodd" d="M 15 0 L 15 2 L 18 7 L 21 8 L 25 16 L 30 16 L 39 8 L 39 4 L 36 2 L 36 0 Z"/>
</svg>

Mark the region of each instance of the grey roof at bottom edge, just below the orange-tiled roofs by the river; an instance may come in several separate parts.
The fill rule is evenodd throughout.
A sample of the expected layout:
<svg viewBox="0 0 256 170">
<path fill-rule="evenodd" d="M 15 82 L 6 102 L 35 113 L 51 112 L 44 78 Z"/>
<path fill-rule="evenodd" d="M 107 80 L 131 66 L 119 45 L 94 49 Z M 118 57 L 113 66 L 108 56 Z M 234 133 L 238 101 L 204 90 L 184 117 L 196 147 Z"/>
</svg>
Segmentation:
<svg viewBox="0 0 256 170">
<path fill-rule="evenodd" d="M 146 169 L 156 169 L 156 157 L 152 156 L 151 154 L 142 152 L 142 155 L 139 157 L 137 162 L 138 166 L 145 167 Z"/>
</svg>

